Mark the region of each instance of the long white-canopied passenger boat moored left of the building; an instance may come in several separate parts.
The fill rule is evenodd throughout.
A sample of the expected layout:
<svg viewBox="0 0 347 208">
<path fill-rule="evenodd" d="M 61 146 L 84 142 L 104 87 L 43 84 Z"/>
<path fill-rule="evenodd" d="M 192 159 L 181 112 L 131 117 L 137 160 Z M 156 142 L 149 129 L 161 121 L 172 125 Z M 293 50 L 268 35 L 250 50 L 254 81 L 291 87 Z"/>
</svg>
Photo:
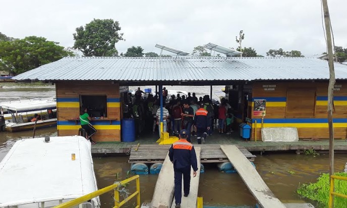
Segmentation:
<svg viewBox="0 0 347 208">
<path fill-rule="evenodd" d="M 56 99 L 37 98 L 0 103 L 0 131 L 18 132 L 56 125 Z M 40 119 L 33 121 L 34 115 Z"/>
</svg>

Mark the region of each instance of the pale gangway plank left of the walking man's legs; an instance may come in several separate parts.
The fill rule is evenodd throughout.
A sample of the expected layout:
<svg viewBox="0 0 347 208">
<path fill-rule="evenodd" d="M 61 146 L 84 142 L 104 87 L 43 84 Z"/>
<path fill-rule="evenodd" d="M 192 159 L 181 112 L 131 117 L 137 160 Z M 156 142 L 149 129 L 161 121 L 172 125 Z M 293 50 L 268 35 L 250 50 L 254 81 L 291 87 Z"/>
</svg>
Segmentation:
<svg viewBox="0 0 347 208">
<path fill-rule="evenodd" d="M 166 152 L 166 157 L 155 184 L 151 207 L 169 208 L 174 197 L 174 165 Z"/>
</svg>

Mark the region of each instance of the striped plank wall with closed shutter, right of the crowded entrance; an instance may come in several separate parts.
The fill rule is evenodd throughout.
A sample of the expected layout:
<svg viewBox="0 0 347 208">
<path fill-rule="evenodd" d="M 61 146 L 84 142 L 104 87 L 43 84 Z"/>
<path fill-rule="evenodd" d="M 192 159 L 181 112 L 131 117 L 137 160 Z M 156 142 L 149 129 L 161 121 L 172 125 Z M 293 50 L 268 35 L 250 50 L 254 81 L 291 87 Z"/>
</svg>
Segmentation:
<svg viewBox="0 0 347 208">
<path fill-rule="evenodd" d="M 288 106 L 293 106 L 293 101 L 290 104 L 287 102 L 287 99 L 293 99 L 293 97 L 295 99 L 297 97 L 298 100 L 294 102 L 305 102 L 302 99 L 302 95 L 307 94 L 309 91 L 312 92 L 312 90 L 315 91 L 315 105 L 312 107 L 314 108 L 313 116 L 309 117 L 304 108 L 288 108 Z M 298 96 L 293 96 L 293 93 L 291 93 L 291 97 L 288 97 L 288 91 L 297 91 L 299 94 Z M 297 127 L 300 139 L 329 138 L 327 96 L 328 82 L 267 82 L 253 84 L 253 100 L 266 99 L 264 127 Z M 253 100 L 252 106 L 254 105 Z M 345 139 L 347 135 L 347 82 L 337 82 L 335 84 L 334 105 L 333 122 L 335 138 Z M 295 114 L 288 113 L 291 111 L 297 112 Z M 261 140 L 261 118 L 261 116 L 253 116 L 252 108 L 252 140 L 255 139 L 255 120 L 257 120 L 257 140 Z"/>
</svg>

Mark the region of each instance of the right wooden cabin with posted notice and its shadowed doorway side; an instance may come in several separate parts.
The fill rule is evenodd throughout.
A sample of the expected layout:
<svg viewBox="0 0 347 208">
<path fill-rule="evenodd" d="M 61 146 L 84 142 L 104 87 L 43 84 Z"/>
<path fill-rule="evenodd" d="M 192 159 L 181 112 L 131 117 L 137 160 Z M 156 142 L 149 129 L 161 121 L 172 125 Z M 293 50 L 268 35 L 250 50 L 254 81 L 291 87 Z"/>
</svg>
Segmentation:
<svg viewBox="0 0 347 208">
<path fill-rule="evenodd" d="M 235 85 L 234 85 L 235 86 Z M 329 138 L 327 81 L 273 81 L 236 85 L 229 89 L 239 122 L 252 126 L 251 140 L 261 140 L 262 127 L 295 127 L 299 138 Z M 236 93 L 235 93 L 236 92 Z M 338 81 L 334 90 L 333 126 L 335 139 L 347 137 L 347 81 Z M 257 128 L 255 128 L 257 122 Z M 262 124 L 263 123 L 263 124 Z"/>
</svg>

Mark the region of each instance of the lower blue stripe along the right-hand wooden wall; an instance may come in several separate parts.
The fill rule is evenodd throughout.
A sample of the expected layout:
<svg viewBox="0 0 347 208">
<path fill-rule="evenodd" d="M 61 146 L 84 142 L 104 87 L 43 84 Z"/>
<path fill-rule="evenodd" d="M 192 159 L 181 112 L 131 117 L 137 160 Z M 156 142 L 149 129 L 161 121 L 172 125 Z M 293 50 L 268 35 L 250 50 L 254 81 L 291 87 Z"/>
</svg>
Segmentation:
<svg viewBox="0 0 347 208">
<path fill-rule="evenodd" d="M 261 119 L 252 119 L 254 123 L 261 123 Z M 347 119 L 333 119 L 334 123 L 347 123 Z M 328 123 L 328 119 L 264 119 L 264 123 L 270 124 L 307 124 L 307 123 Z"/>
</svg>

